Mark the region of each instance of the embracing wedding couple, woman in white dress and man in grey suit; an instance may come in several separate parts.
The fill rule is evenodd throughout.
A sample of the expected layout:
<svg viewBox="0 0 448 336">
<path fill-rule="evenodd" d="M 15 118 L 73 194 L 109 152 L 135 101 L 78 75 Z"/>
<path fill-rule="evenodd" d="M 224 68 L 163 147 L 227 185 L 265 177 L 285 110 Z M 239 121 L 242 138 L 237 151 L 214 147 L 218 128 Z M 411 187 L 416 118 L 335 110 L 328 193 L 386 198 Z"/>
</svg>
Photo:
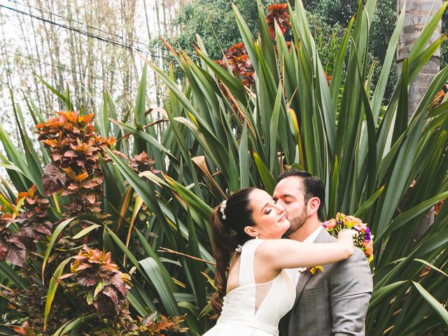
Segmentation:
<svg viewBox="0 0 448 336">
<path fill-rule="evenodd" d="M 211 306 L 220 316 L 204 335 L 364 335 L 370 267 L 352 230 L 336 239 L 323 229 L 324 200 L 319 179 L 290 170 L 273 196 L 246 188 L 215 207 Z"/>
</svg>

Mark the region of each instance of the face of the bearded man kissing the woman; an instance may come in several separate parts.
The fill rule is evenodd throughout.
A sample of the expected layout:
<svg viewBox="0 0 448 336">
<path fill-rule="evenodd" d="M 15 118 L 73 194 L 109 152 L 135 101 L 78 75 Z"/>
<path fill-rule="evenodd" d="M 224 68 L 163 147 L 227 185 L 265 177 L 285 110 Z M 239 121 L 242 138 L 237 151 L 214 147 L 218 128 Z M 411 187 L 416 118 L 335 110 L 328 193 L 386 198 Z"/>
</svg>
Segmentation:
<svg viewBox="0 0 448 336">
<path fill-rule="evenodd" d="M 286 209 L 290 221 L 290 228 L 285 233 L 287 236 L 302 228 L 308 219 L 303 188 L 302 179 L 298 176 L 286 177 L 275 187 L 272 198 Z"/>
</svg>

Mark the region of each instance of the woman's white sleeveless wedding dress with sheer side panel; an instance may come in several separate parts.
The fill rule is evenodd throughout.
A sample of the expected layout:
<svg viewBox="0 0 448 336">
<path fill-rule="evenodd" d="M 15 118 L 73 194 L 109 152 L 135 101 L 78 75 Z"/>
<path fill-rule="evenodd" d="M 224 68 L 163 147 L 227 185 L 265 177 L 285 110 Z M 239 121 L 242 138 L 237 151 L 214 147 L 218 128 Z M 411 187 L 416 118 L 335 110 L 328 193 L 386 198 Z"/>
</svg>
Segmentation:
<svg viewBox="0 0 448 336">
<path fill-rule="evenodd" d="M 239 286 L 224 298 L 221 316 L 204 336 L 277 336 L 279 321 L 295 302 L 295 286 L 283 269 L 274 280 L 255 283 L 253 255 L 262 239 L 241 248 Z"/>
</svg>

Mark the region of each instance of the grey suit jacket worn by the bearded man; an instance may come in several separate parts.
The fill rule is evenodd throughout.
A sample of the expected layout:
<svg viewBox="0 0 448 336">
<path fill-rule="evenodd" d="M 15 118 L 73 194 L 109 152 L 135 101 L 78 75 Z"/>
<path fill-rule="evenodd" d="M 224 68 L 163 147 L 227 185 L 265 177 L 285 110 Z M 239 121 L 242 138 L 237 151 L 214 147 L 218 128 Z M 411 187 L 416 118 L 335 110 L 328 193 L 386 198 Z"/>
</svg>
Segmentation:
<svg viewBox="0 0 448 336">
<path fill-rule="evenodd" d="M 321 230 L 315 243 L 335 238 Z M 293 309 L 280 321 L 280 336 L 361 336 L 372 294 L 372 274 L 363 251 L 300 274 Z"/>
</svg>

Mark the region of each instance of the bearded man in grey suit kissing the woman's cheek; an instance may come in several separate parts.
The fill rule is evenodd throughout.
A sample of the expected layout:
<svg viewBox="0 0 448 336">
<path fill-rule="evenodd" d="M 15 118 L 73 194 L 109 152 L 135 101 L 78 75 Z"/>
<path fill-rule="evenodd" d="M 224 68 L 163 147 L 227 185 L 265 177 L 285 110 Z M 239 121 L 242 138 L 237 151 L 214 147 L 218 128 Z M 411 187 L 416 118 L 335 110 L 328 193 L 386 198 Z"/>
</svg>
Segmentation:
<svg viewBox="0 0 448 336">
<path fill-rule="evenodd" d="M 321 205 L 325 188 L 308 172 L 290 170 L 277 179 L 273 198 L 285 207 L 290 221 L 286 235 L 304 243 L 334 241 L 322 228 Z M 372 274 L 364 253 L 353 255 L 317 270 L 299 272 L 288 269 L 296 284 L 293 309 L 279 325 L 280 336 L 360 336 L 372 294 Z"/>
</svg>

